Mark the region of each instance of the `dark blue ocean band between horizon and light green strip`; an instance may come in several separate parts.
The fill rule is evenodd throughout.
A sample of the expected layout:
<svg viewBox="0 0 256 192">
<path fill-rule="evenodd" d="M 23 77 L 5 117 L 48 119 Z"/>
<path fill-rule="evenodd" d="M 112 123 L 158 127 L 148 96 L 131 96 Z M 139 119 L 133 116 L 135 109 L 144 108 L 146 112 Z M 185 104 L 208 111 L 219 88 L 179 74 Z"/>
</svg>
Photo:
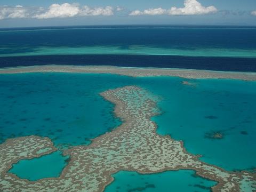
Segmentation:
<svg viewBox="0 0 256 192">
<path fill-rule="evenodd" d="M 102 28 L 20 28 L 2 30 L 1 46 L 28 51 L 33 46 L 94 46 L 146 45 L 158 47 L 220 47 L 255 49 L 256 28 L 205 28 L 205 27 L 102 27 Z M 27 50 L 21 47 L 28 46 Z M 1 53 L 5 51 L 1 50 Z"/>
</svg>

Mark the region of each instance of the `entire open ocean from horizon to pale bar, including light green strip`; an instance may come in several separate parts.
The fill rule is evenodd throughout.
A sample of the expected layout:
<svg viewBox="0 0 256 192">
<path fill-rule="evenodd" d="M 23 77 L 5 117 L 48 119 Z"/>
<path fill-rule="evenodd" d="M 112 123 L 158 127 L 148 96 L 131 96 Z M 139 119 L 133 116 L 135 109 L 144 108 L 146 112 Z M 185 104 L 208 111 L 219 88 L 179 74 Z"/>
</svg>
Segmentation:
<svg viewBox="0 0 256 192">
<path fill-rule="evenodd" d="M 256 28 L 0 29 L 0 67 L 46 64 L 256 71 Z"/>
</svg>

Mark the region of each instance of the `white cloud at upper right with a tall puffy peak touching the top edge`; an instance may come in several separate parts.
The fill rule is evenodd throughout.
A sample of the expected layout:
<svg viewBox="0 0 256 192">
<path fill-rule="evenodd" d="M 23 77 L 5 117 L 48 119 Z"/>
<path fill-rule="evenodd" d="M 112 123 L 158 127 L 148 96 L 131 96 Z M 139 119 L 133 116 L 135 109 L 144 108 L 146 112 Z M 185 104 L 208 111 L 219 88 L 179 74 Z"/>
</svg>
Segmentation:
<svg viewBox="0 0 256 192">
<path fill-rule="evenodd" d="M 162 9 L 161 7 L 157 9 L 147 9 L 144 11 L 135 10 L 132 11 L 129 15 L 199 15 L 199 14 L 208 14 L 214 13 L 218 10 L 214 6 L 204 7 L 197 0 L 185 0 L 184 7 L 177 8 L 171 7 L 171 9 Z"/>
</svg>

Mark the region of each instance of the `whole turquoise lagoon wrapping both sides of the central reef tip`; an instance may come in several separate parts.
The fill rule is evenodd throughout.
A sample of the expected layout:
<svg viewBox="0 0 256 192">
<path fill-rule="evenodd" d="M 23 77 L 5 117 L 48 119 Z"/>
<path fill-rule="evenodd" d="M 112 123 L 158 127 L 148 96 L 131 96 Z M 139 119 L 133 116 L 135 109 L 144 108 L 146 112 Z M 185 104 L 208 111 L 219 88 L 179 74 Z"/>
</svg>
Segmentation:
<svg viewBox="0 0 256 192">
<path fill-rule="evenodd" d="M 99 93 L 138 85 L 162 98 L 158 106 L 163 113 L 153 117 L 159 134 L 184 141 L 190 153 L 227 170 L 255 167 L 256 82 L 198 79 L 190 81 L 195 86 L 188 86 L 182 84 L 184 80 L 102 74 L 1 75 L 0 139 L 35 134 L 50 137 L 59 149 L 88 145 L 121 124 L 113 114 L 114 105 Z M 211 138 L 215 133 L 222 139 Z"/>
</svg>

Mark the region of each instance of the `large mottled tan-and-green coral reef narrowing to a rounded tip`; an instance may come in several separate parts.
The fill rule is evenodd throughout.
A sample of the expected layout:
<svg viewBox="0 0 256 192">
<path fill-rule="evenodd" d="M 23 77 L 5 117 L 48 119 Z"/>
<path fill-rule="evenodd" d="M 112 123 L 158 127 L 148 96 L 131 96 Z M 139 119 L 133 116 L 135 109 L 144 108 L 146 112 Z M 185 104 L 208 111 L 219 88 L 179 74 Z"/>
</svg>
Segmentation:
<svg viewBox="0 0 256 192">
<path fill-rule="evenodd" d="M 89 146 L 64 150 L 63 155 L 70 159 L 60 177 L 34 182 L 8 170 L 20 159 L 52 153 L 56 150 L 53 143 L 36 136 L 8 139 L 0 145 L 1 191 L 103 191 L 114 180 L 111 175 L 121 170 L 147 174 L 180 169 L 194 170 L 200 177 L 217 181 L 213 191 L 255 191 L 255 173 L 229 172 L 204 163 L 189 154 L 182 141 L 158 135 L 157 125 L 151 121 L 159 114 L 158 98 L 146 90 L 125 86 L 101 95 L 115 103 L 115 114 L 122 125 L 93 139 Z"/>
</svg>

